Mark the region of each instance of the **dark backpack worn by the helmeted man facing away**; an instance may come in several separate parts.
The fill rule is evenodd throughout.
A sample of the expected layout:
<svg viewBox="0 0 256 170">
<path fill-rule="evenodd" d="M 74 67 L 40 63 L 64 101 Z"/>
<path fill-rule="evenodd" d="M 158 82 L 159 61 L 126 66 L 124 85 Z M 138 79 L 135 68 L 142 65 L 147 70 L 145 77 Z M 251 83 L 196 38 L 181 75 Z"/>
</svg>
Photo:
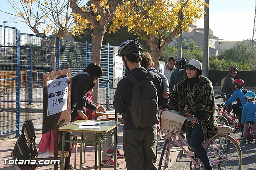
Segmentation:
<svg viewBox="0 0 256 170">
<path fill-rule="evenodd" d="M 158 123 L 158 97 L 153 83 L 154 73 L 148 71 L 146 80 L 138 80 L 132 75 L 124 78 L 132 81 L 132 102 L 128 107 L 134 127 L 152 127 Z"/>
</svg>

